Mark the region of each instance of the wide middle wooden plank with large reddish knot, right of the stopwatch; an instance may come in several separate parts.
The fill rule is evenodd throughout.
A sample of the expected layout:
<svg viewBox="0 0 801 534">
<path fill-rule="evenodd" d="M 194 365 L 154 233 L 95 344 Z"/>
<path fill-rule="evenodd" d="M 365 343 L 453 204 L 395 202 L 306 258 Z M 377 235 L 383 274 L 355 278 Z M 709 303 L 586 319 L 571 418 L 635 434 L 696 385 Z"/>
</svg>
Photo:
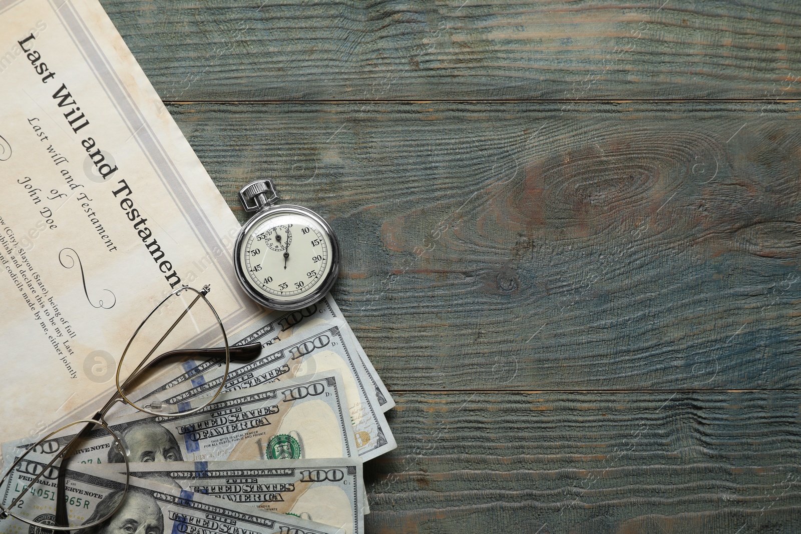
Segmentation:
<svg viewBox="0 0 801 534">
<path fill-rule="evenodd" d="M 561 106 L 170 110 L 240 216 L 328 217 L 396 391 L 798 387 L 799 103 Z"/>
</svg>

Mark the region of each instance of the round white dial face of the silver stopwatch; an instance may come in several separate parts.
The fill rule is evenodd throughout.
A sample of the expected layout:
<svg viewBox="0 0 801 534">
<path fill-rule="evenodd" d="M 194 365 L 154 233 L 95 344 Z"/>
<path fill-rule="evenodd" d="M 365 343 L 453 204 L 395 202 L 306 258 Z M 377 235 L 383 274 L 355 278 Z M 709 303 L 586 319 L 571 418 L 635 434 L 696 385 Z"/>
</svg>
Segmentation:
<svg viewBox="0 0 801 534">
<path fill-rule="evenodd" d="M 244 235 L 239 259 L 256 291 L 271 299 L 301 299 L 331 271 L 331 240 L 313 219 L 270 214 Z"/>
</svg>

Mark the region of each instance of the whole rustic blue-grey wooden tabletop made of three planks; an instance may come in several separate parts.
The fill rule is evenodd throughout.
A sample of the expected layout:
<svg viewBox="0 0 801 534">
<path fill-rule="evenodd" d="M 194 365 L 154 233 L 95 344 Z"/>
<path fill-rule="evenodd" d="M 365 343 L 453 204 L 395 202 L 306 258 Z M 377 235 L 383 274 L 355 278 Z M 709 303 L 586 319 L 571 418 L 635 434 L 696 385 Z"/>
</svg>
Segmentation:
<svg viewBox="0 0 801 534">
<path fill-rule="evenodd" d="M 799 532 L 801 5 L 103 0 L 397 407 L 368 532 Z"/>
</svg>

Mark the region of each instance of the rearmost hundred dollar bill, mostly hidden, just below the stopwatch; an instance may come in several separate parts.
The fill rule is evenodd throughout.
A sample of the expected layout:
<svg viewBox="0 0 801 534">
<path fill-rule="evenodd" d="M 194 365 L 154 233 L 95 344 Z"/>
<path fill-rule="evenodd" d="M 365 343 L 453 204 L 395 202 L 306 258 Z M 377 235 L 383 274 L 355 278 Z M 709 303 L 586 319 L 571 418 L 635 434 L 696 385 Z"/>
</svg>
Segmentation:
<svg viewBox="0 0 801 534">
<path fill-rule="evenodd" d="M 304 307 L 302 310 L 272 312 L 240 331 L 238 335 L 231 337 L 232 344 L 244 345 L 258 341 L 263 347 L 268 347 L 268 345 L 284 341 L 295 335 L 301 327 L 311 326 L 309 323 L 332 322 L 336 319 L 342 319 L 341 328 L 346 335 L 350 336 L 353 352 L 358 356 L 362 367 L 364 367 L 364 376 L 372 384 L 381 411 L 386 412 L 395 406 L 395 400 L 389 394 L 389 390 L 376 372 L 376 368 L 372 366 L 372 362 L 367 357 L 367 353 L 364 352 L 359 339 L 356 338 L 348 322 L 344 320 L 342 311 L 340 311 L 330 293 L 325 295 L 325 298 L 320 302 Z"/>
</svg>

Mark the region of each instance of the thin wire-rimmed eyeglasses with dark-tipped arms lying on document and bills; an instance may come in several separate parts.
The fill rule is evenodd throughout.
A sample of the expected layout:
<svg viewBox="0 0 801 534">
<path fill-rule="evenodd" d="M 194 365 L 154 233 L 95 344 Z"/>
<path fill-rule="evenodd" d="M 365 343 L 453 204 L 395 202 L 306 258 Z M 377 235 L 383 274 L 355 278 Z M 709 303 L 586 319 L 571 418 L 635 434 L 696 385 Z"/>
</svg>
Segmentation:
<svg viewBox="0 0 801 534">
<path fill-rule="evenodd" d="M 103 408 L 89 419 L 75 420 L 50 432 L 35 444 L 27 446 L 22 456 L 14 460 L 14 463 L 0 479 L 0 487 L 9 481 L 14 470 L 18 469 L 26 460 L 26 456 L 32 453 L 53 454 L 52 460 L 38 472 L 27 473 L 29 476 L 25 478 L 30 481 L 23 487 L 14 488 L 13 491 L 6 489 L 6 495 L 12 492 L 19 492 L 19 495 L 14 496 L 14 500 L 8 506 L 0 504 L 0 520 L 10 516 L 34 527 L 69 531 L 76 528 L 95 527 L 114 516 L 123 505 L 129 487 L 128 456 L 130 449 L 125 440 L 118 436 L 105 420 L 111 407 L 117 403 L 130 404 L 140 412 L 167 418 L 191 415 L 206 408 L 223 390 L 231 360 L 235 362 L 250 361 L 261 352 L 260 343 L 228 347 L 223 323 L 206 298 L 209 291 L 208 286 L 203 287 L 200 291 L 194 287 L 183 286 L 167 295 L 145 317 L 131 335 L 131 339 L 128 340 L 115 376 L 117 391 L 111 395 L 111 399 L 108 399 Z M 219 343 L 219 339 L 222 339 L 223 347 L 193 348 Z M 197 360 L 202 360 L 202 363 L 198 363 Z M 191 403 L 172 404 L 169 388 L 155 386 L 155 384 L 169 383 L 171 377 L 190 370 L 193 382 L 202 381 L 204 371 L 214 370 L 215 376 L 219 376 L 219 367 L 224 367 L 223 379 L 219 381 L 219 386 L 208 391 L 203 398 L 195 399 Z M 84 426 L 78 430 L 76 427 L 80 425 Z M 73 429 L 70 432 L 76 430 L 77 432 L 74 434 L 66 432 L 70 429 Z M 121 458 L 125 463 L 125 489 L 119 494 L 119 501 L 114 507 L 105 507 L 109 510 L 108 512 L 100 514 L 100 517 L 95 517 L 93 514 L 90 518 L 91 522 L 79 525 L 69 524 L 66 499 L 68 460 L 70 456 L 80 450 L 83 441 L 94 440 L 99 436 L 111 436 L 109 458 L 118 459 L 116 461 Z M 57 461 L 59 463 L 55 467 L 54 464 Z M 25 465 L 30 465 L 30 463 L 26 462 Z M 58 475 L 56 475 L 56 470 Z M 42 496 L 37 496 L 37 492 L 31 491 L 42 476 L 45 476 L 46 480 L 50 480 L 48 485 L 52 486 L 53 483 L 57 485 L 57 490 L 55 492 L 48 491 L 45 497 L 45 500 L 55 500 L 54 516 L 42 514 L 43 507 L 40 502 Z M 23 499 L 29 493 L 30 498 Z M 47 498 L 48 496 L 50 499 Z M 44 504 L 50 505 L 50 502 Z M 75 516 L 75 514 L 73 515 Z"/>
</svg>

